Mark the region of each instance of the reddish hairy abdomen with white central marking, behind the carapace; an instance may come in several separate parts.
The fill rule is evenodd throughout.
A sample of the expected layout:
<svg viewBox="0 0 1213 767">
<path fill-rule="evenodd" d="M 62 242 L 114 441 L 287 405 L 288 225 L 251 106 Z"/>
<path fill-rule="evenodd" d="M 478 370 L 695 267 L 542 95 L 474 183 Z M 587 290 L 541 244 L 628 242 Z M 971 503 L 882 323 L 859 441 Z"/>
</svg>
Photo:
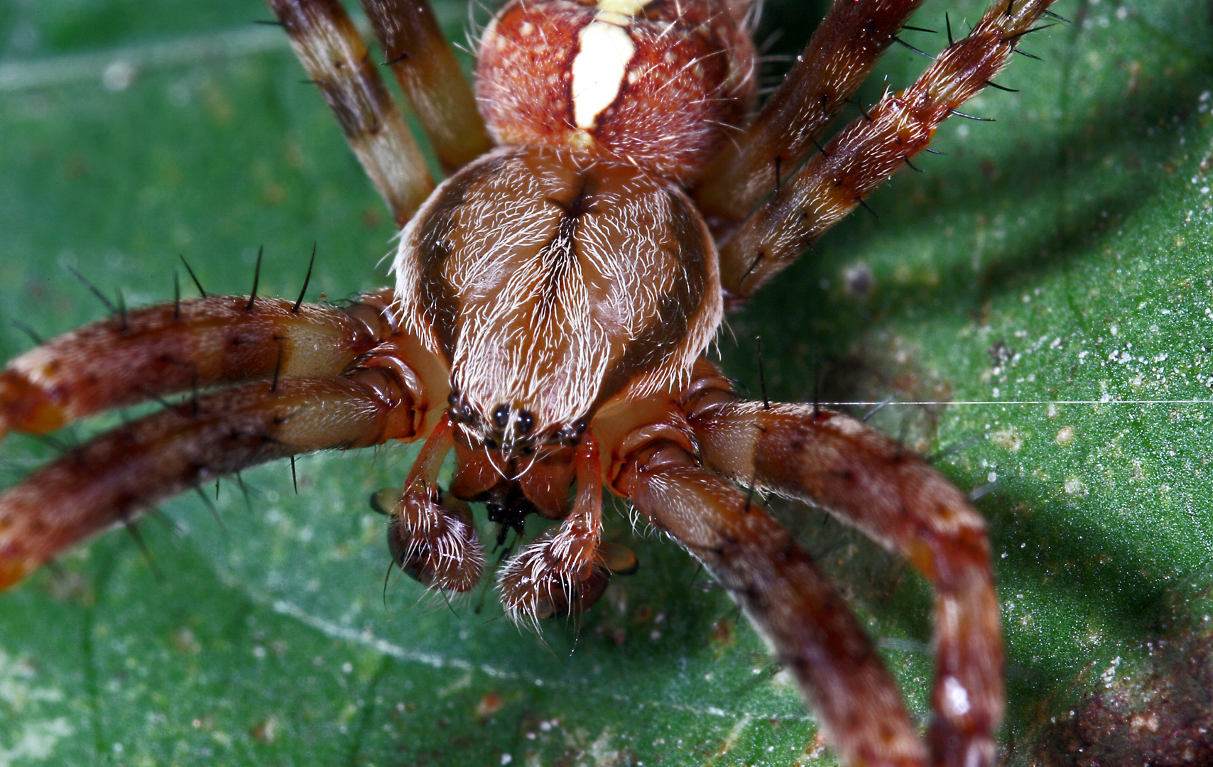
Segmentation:
<svg viewBox="0 0 1213 767">
<path fill-rule="evenodd" d="M 688 181 L 752 106 L 753 73 L 724 0 L 513 0 L 484 33 L 475 91 L 499 143 Z"/>
</svg>

